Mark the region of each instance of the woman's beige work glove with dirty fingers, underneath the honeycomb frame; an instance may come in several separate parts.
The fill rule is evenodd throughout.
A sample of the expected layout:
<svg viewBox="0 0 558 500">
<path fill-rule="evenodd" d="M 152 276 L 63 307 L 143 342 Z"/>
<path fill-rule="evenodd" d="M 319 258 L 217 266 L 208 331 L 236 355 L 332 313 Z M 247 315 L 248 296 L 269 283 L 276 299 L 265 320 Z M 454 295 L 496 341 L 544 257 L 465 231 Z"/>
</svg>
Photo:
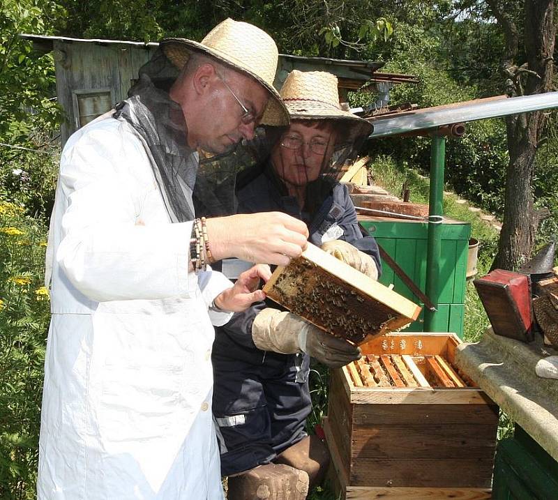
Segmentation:
<svg viewBox="0 0 558 500">
<path fill-rule="evenodd" d="M 361 357 L 361 349 L 325 333 L 305 319 L 273 308 L 259 312 L 252 324 L 258 349 L 280 354 L 306 354 L 330 368 L 340 368 Z"/>
</svg>

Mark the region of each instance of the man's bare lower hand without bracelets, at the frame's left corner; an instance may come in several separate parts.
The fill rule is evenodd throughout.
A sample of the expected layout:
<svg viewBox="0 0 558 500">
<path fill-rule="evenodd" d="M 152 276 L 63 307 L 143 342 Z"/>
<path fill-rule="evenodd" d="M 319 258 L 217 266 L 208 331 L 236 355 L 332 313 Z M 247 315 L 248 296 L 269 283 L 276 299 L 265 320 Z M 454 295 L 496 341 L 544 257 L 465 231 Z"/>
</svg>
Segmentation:
<svg viewBox="0 0 558 500">
<path fill-rule="evenodd" d="M 263 301 L 266 298 L 264 291 L 258 289 L 259 280 L 267 282 L 269 278 L 271 278 L 269 266 L 257 264 L 248 271 L 244 271 L 236 280 L 234 287 L 222 291 L 213 303 L 224 311 L 245 311 L 252 303 Z"/>
</svg>

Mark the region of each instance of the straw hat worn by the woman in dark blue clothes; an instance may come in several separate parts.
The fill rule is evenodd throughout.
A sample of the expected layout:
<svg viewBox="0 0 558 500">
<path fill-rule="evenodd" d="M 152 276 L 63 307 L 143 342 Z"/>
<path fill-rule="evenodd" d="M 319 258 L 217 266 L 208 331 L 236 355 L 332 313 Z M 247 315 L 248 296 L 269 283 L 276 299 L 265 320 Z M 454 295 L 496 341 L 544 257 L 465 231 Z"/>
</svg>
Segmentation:
<svg viewBox="0 0 558 500">
<path fill-rule="evenodd" d="M 340 120 L 372 133 L 372 123 L 339 104 L 338 81 L 324 71 L 292 70 L 279 91 L 292 120 Z"/>
</svg>

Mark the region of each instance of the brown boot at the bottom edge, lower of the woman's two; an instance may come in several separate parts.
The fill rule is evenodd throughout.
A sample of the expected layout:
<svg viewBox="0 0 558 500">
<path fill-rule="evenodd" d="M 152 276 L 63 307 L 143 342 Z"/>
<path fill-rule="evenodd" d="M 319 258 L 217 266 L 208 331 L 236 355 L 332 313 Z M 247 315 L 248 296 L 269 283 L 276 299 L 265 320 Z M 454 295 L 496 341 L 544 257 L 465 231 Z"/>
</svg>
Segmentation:
<svg viewBox="0 0 558 500">
<path fill-rule="evenodd" d="M 228 500 L 305 500 L 308 474 L 285 464 L 266 464 L 229 476 Z"/>
</svg>

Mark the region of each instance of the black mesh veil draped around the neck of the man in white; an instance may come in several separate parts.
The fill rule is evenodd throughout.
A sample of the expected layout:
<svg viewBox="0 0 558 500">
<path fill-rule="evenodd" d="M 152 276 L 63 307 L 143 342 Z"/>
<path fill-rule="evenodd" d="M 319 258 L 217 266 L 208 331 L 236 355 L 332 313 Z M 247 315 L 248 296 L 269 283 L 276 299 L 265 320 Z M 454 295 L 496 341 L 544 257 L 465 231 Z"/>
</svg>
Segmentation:
<svg viewBox="0 0 558 500">
<path fill-rule="evenodd" d="M 264 147 L 265 141 L 213 157 L 191 149 L 182 109 L 169 97 L 179 74 L 164 52 L 156 50 L 140 68 L 128 99 L 116 105 L 114 117 L 128 121 L 144 143 L 172 222 L 193 220 L 196 215 L 230 215 L 236 212 L 236 174 L 265 156 L 255 146 Z M 211 109 L 206 118 L 219 119 Z"/>
</svg>

